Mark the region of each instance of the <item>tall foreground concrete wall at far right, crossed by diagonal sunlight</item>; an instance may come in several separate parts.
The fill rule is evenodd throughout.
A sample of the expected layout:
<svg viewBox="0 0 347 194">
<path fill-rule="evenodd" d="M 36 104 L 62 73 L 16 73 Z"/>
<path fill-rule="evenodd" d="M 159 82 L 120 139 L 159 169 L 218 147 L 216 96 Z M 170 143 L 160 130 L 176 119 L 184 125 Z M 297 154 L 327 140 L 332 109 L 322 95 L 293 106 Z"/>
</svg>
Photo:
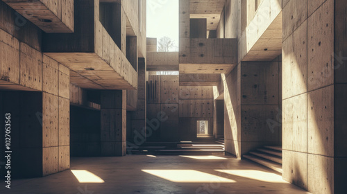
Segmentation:
<svg viewBox="0 0 347 194">
<path fill-rule="evenodd" d="M 345 4 L 283 3 L 283 178 L 312 193 L 346 191 Z"/>
</svg>

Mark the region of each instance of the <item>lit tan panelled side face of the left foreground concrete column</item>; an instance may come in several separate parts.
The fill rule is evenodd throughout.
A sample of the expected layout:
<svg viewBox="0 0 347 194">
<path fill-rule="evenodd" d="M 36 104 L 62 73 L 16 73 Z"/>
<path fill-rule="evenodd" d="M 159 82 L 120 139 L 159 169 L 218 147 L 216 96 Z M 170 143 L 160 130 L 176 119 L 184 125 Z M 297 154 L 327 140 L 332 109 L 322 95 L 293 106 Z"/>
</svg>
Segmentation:
<svg viewBox="0 0 347 194">
<path fill-rule="evenodd" d="M 51 175 L 70 168 L 70 70 L 42 62 L 42 173 Z"/>
</svg>

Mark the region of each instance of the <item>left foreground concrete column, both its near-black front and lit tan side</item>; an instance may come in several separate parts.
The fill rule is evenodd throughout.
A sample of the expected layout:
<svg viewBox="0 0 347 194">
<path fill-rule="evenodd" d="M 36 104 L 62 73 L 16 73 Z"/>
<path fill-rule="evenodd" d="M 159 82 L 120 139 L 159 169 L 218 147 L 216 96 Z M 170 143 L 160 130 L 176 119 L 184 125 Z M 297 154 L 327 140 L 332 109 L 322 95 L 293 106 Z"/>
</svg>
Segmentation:
<svg viewBox="0 0 347 194">
<path fill-rule="evenodd" d="M 69 69 L 43 55 L 42 91 L 1 91 L 0 96 L 1 115 L 11 114 L 12 177 L 69 169 Z"/>
</svg>

